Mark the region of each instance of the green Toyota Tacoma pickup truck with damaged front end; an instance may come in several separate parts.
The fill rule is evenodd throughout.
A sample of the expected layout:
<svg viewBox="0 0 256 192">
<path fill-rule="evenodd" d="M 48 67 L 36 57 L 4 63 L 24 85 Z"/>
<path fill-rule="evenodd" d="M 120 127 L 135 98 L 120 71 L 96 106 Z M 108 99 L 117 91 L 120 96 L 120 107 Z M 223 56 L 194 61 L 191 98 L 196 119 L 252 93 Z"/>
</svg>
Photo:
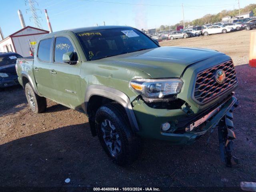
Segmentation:
<svg viewBox="0 0 256 192">
<path fill-rule="evenodd" d="M 237 162 L 238 80 L 223 53 L 160 47 L 136 28 L 97 26 L 43 36 L 34 58 L 19 58 L 16 70 L 33 112 L 44 112 L 48 98 L 87 114 L 117 164 L 136 159 L 141 138 L 192 144 L 217 125 L 222 160 Z"/>
</svg>

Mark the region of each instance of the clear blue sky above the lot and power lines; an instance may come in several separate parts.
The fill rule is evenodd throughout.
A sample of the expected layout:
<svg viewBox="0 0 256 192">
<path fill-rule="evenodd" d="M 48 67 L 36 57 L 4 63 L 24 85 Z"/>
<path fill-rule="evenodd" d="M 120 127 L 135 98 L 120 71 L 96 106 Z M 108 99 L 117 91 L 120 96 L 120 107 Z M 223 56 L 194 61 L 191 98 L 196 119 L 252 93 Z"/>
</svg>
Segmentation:
<svg viewBox="0 0 256 192">
<path fill-rule="evenodd" d="M 26 26 L 34 26 L 32 12 L 26 0 L 0 0 L 0 27 L 4 37 L 21 29 L 17 10 L 22 11 Z M 28 1 L 28 0 L 27 0 Z M 138 29 L 173 25 L 182 18 L 194 20 L 206 14 L 216 14 L 224 9 L 238 9 L 238 0 L 34 0 L 42 28 L 48 30 L 44 9 L 47 9 L 52 30 L 87 26 L 120 25 Z M 256 3 L 240 0 L 240 8 Z"/>
</svg>

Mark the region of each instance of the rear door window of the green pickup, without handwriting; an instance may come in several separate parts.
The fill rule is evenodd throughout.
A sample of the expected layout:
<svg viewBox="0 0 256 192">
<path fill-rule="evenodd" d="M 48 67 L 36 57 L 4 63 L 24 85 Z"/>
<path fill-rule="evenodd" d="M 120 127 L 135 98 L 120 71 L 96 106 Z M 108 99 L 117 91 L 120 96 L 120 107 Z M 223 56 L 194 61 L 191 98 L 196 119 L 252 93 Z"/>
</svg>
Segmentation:
<svg viewBox="0 0 256 192">
<path fill-rule="evenodd" d="M 44 39 L 39 42 L 37 57 L 41 61 L 50 62 L 50 48 L 52 39 Z"/>
</svg>

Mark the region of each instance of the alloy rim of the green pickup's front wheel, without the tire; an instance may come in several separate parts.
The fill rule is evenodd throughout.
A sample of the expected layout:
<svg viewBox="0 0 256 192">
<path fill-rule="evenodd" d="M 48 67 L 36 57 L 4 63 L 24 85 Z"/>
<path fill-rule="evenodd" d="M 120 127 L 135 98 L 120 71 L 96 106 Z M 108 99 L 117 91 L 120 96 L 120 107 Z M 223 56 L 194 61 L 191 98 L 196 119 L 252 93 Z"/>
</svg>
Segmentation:
<svg viewBox="0 0 256 192">
<path fill-rule="evenodd" d="M 119 154 L 121 151 L 121 140 L 119 134 L 110 120 L 105 119 L 101 123 L 103 139 L 112 156 Z"/>
</svg>

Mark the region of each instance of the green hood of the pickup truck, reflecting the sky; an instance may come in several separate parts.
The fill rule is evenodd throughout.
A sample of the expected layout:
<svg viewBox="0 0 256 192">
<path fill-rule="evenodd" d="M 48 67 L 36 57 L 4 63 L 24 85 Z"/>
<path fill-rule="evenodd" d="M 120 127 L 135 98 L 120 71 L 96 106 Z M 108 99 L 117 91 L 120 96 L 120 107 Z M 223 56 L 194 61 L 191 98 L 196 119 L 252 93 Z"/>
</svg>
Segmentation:
<svg viewBox="0 0 256 192">
<path fill-rule="evenodd" d="M 158 47 L 98 60 L 142 70 L 152 78 L 180 77 L 190 64 L 221 55 L 215 50 L 188 47 Z"/>
</svg>

